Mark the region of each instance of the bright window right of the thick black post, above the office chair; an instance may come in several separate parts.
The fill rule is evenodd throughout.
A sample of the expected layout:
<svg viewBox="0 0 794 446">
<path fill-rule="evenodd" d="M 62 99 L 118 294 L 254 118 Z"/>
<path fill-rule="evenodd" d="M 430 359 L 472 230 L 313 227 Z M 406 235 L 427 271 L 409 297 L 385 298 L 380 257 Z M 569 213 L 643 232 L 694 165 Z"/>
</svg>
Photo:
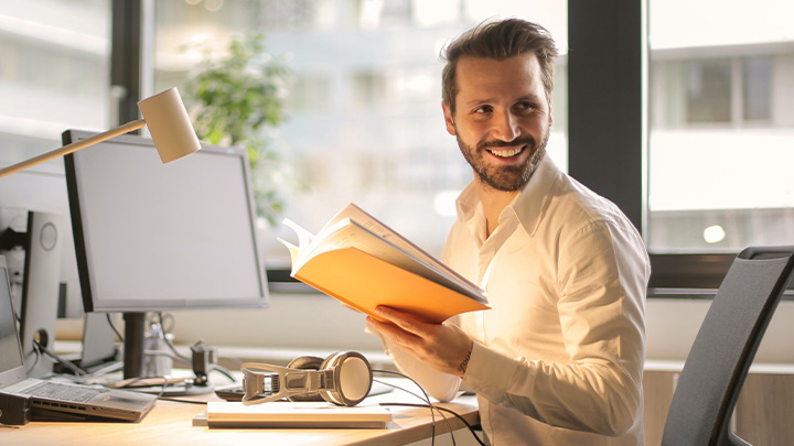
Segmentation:
<svg viewBox="0 0 794 446">
<path fill-rule="evenodd" d="M 751 20 L 759 11 L 768 19 Z M 652 252 L 794 242 L 794 39 L 777 19 L 792 13 L 768 0 L 650 1 Z"/>
</svg>

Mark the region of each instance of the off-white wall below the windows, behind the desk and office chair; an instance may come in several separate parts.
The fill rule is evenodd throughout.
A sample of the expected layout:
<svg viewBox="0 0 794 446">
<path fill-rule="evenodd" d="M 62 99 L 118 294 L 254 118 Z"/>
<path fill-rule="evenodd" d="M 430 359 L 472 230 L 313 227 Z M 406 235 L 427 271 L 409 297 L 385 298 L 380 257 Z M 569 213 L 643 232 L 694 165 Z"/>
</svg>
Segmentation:
<svg viewBox="0 0 794 446">
<path fill-rule="evenodd" d="M 652 298 L 646 308 L 647 353 L 653 360 L 684 360 L 710 301 Z M 215 346 L 380 350 L 364 333 L 364 316 L 321 295 L 277 294 L 267 309 L 176 312 L 179 344 L 204 339 Z M 782 302 L 755 357 L 757 362 L 794 365 L 794 302 Z"/>
</svg>

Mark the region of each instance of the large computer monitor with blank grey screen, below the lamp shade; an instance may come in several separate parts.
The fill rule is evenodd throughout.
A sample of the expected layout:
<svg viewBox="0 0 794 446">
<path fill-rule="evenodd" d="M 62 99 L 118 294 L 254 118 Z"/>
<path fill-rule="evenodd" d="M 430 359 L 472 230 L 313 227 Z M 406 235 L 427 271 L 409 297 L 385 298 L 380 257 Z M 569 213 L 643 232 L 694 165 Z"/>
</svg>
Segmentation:
<svg viewBox="0 0 794 446">
<path fill-rule="evenodd" d="M 64 161 L 83 304 L 124 313 L 125 378 L 142 373 L 147 312 L 267 306 L 244 150 L 204 144 L 163 164 L 129 134 Z"/>
</svg>

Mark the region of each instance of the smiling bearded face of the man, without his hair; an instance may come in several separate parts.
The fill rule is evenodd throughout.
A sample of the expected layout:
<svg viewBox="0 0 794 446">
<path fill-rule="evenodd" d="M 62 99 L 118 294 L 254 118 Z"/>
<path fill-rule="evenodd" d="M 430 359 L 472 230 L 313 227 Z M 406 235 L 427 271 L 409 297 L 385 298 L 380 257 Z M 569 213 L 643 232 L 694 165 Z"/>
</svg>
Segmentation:
<svg viewBox="0 0 794 446">
<path fill-rule="evenodd" d="M 454 116 L 443 106 L 447 131 L 481 184 L 522 189 L 546 152 L 551 126 L 537 56 L 463 57 L 457 78 Z"/>
</svg>

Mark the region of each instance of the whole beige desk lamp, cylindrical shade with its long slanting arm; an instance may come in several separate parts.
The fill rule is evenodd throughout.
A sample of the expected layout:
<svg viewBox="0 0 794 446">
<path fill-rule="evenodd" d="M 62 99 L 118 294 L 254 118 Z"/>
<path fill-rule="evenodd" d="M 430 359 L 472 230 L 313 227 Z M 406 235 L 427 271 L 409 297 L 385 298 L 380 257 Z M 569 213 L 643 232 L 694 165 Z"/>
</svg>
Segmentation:
<svg viewBox="0 0 794 446">
<path fill-rule="evenodd" d="M 151 133 L 154 146 L 160 153 L 160 159 L 163 163 L 178 160 L 201 149 L 198 138 L 196 138 L 193 126 L 187 117 L 187 110 L 185 110 L 176 88 L 168 89 L 141 100 L 138 102 L 138 108 L 140 108 L 143 119 L 128 122 L 104 133 L 75 141 L 61 149 L 55 149 L 30 160 L 0 168 L 0 177 L 85 149 L 98 142 L 118 137 L 119 134 L 129 133 L 143 126 L 149 127 L 149 133 Z"/>
</svg>

